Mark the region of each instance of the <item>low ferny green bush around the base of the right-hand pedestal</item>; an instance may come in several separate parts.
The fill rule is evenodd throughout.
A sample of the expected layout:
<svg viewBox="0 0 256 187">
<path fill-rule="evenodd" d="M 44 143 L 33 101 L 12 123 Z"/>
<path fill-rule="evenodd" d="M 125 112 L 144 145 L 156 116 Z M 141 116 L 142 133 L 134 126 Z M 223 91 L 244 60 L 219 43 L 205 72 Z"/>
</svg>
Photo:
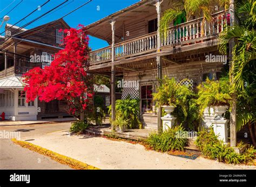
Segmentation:
<svg viewBox="0 0 256 187">
<path fill-rule="evenodd" d="M 213 130 L 203 129 L 198 133 L 196 145 L 205 157 L 209 159 L 217 159 L 219 162 L 224 163 L 247 163 L 252 162 L 256 150 L 251 147 L 247 147 L 244 153 L 237 154 L 229 144 L 224 144 L 218 140 L 218 136 L 214 134 Z"/>
</svg>

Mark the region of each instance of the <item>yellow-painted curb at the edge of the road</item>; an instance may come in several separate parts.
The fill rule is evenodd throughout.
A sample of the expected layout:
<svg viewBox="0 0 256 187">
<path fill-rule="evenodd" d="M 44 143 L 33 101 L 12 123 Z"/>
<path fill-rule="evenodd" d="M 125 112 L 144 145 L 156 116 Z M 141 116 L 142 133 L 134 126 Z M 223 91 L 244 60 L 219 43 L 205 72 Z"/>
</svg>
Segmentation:
<svg viewBox="0 0 256 187">
<path fill-rule="evenodd" d="M 42 154 L 42 155 L 49 156 L 49 157 L 51 157 L 51 159 L 53 159 L 59 163 L 62 163 L 62 164 L 67 164 L 69 167 L 71 167 L 73 169 L 79 169 L 79 170 L 98 170 L 99 169 L 94 166 L 90 166 L 89 164 L 72 159 L 71 157 L 60 155 L 58 153 L 52 152 L 51 150 L 45 149 L 40 146 L 36 146 L 30 142 L 16 140 L 15 138 L 13 138 L 11 140 L 12 140 L 12 142 L 16 143 L 17 145 L 20 145 L 21 147 L 30 149 L 30 150 L 37 152 L 39 154 Z"/>
</svg>

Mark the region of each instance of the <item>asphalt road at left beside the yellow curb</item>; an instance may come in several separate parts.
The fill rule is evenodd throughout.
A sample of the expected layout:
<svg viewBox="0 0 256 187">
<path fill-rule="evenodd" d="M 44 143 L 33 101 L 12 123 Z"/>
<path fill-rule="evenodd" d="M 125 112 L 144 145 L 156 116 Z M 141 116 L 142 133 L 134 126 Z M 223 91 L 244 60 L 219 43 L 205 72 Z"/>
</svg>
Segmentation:
<svg viewBox="0 0 256 187">
<path fill-rule="evenodd" d="M 43 135 L 55 131 L 68 130 L 69 122 L 55 124 L 1 126 L 2 132 L 18 132 L 21 138 L 30 139 L 33 135 Z M 6 138 L 6 137 L 4 137 Z M 72 169 L 29 149 L 0 138 L 0 169 Z"/>
</svg>

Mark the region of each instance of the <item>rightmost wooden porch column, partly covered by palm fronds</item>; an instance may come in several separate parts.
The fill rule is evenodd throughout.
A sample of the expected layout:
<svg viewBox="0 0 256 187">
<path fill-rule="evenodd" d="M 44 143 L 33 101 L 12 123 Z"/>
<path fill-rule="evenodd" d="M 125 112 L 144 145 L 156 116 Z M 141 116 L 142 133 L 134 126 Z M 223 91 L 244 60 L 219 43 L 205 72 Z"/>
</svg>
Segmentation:
<svg viewBox="0 0 256 187">
<path fill-rule="evenodd" d="M 234 0 L 230 0 L 230 26 L 233 26 L 235 23 L 235 11 L 234 11 Z M 233 62 L 233 47 L 235 45 L 235 40 L 231 39 L 228 43 L 229 55 L 230 55 L 230 71 L 234 69 Z M 234 84 L 234 75 L 230 74 L 230 83 Z M 235 93 L 232 94 L 232 110 L 230 112 L 230 146 L 237 146 L 237 98 Z"/>
</svg>

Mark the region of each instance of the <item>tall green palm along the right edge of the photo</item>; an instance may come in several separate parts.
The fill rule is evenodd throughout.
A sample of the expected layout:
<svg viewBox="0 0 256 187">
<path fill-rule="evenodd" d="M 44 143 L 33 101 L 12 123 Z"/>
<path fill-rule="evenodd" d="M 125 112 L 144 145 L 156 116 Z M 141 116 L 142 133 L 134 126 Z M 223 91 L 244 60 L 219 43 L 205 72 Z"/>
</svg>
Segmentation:
<svg viewBox="0 0 256 187">
<path fill-rule="evenodd" d="M 256 147 L 256 2 L 244 0 L 237 3 L 239 25 L 227 26 L 220 34 L 219 52 L 228 53 L 227 44 L 235 39 L 233 48 L 234 89 L 237 92 L 237 130 L 248 124 L 253 145 Z"/>
</svg>

